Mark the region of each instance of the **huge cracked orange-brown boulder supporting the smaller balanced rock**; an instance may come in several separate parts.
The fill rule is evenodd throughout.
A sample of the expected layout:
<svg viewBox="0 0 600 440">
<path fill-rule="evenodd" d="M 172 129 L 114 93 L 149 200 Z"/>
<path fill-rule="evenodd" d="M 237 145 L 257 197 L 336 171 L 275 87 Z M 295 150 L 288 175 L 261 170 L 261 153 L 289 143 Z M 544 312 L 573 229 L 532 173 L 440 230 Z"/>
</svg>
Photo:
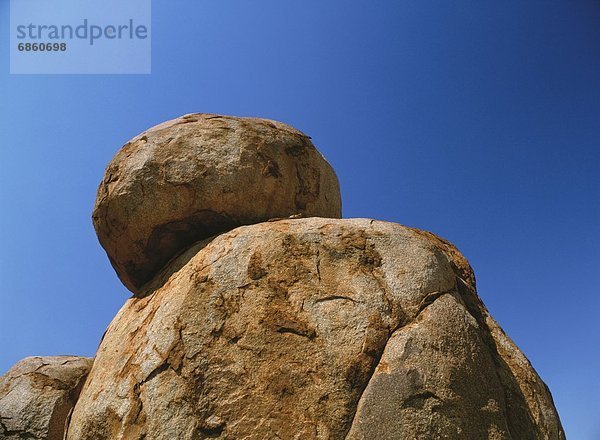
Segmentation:
<svg viewBox="0 0 600 440">
<path fill-rule="evenodd" d="M 68 438 L 562 439 L 466 260 L 373 220 L 197 244 L 109 326 Z"/>
</svg>

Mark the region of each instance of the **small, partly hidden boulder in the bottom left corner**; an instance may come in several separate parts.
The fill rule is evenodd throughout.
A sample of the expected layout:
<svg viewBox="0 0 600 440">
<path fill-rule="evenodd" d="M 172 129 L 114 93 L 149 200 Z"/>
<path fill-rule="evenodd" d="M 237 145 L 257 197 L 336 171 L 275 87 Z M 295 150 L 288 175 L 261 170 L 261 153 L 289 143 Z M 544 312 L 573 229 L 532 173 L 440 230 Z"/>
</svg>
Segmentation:
<svg viewBox="0 0 600 440">
<path fill-rule="evenodd" d="M 30 357 L 0 377 L 0 439 L 62 440 L 92 362 Z"/>
</svg>

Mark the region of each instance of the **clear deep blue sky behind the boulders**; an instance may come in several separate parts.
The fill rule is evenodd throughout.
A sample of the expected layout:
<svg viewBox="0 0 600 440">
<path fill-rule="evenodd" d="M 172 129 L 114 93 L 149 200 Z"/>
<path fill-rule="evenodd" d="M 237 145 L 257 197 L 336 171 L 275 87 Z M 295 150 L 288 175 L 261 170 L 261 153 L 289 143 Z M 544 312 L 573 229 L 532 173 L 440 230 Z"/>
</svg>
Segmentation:
<svg viewBox="0 0 600 440">
<path fill-rule="evenodd" d="M 155 1 L 153 73 L 11 76 L 0 6 L 0 373 L 92 355 L 128 297 L 90 219 L 129 138 L 191 112 L 313 137 L 345 217 L 431 230 L 600 438 L 600 2 Z"/>
</svg>

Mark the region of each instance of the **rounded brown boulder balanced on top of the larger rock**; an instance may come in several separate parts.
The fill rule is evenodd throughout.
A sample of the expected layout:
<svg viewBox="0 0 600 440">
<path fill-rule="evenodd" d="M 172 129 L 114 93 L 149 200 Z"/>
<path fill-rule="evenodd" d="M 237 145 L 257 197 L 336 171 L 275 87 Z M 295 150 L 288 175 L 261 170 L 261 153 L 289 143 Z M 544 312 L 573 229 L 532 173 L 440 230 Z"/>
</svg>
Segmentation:
<svg viewBox="0 0 600 440">
<path fill-rule="evenodd" d="M 128 142 L 109 164 L 93 221 L 134 293 L 197 240 L 302 214 L 341 216 L 333 169 L 280 122 L 192 114 Z"/>
</svg>

